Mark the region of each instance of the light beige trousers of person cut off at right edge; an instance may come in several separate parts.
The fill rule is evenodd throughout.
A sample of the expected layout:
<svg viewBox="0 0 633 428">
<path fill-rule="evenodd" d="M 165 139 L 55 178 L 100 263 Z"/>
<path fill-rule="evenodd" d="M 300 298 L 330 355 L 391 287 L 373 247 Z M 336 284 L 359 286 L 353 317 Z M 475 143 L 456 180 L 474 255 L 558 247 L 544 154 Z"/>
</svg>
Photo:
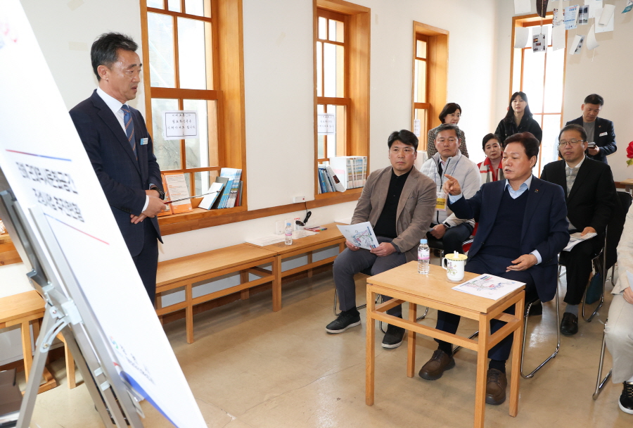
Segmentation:
<svg viewBox="0 0 633 428">
<path fill-rule="evenodd" d="M 625 301 L 622 294 L 613 296 L 604 334 L 613 357 L 611 379 L 621 384 L 633 377 L 633 305 Z"/>
</svg>

